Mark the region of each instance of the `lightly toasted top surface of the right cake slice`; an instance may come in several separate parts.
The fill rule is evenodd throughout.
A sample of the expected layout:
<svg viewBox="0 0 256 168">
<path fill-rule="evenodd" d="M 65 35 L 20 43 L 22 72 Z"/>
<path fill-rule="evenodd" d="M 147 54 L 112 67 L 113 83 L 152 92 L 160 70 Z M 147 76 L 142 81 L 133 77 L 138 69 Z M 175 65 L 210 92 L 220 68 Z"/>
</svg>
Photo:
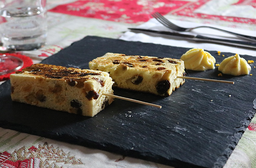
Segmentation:
<svg viewBox="0 0 256 168">
<path fill-rule="evenodd" d="M 151 56 L 132 56 L 126 54 L 106 53 L 104 56 L 94 59 L 92 62 L 98 65 L 123 65 L 124 67 L 136 68 L 140 70 L 155 71 L 167 70 L 175 64 L 180 64 L 182 60 L 172 58 L 161 58 Z"/>
</svg>

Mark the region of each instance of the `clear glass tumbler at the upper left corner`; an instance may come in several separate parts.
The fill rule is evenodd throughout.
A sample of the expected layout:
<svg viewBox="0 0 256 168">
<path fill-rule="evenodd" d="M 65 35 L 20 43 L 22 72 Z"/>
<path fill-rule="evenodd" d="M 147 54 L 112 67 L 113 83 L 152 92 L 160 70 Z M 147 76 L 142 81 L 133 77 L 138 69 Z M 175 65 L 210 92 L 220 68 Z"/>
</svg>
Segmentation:
<svg viewBox="0 0 256 168">
<path fill-rule="evenodd" d="M 46 44 L 46 0 L 1 0 L 0 36 L 6 50 L 35 50 Z"/>
</svg>

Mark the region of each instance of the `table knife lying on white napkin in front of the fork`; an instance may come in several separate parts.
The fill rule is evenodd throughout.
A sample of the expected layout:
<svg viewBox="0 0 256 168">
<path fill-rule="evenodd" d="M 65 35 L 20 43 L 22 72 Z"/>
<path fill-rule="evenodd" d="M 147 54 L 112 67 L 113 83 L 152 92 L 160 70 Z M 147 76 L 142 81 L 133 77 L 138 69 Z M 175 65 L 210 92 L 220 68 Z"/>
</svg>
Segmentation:
<svg viewBox="0 0 256 168">
<path fill-rule="evenodd" d="M 168 31 L 158 31 L 158 30 L 149 30 L 149 29 L 141 29 L 141 28 L 128 28 L 130 30 L 142 31 L 142 32 L 151 32 L 156 34 L 165 34 L 168 36 L 178 37 L 181 39 L 192 40 L 195 42 L 208 42 L 215 44 L 224 44 L 235 47 L 244 47 L 244 48 L 252 48 L 256 49 L 256 42 L 247 42 L 247 41 L 237 41 L 237 40 L 226 40 L 221 38 L 211 38 L 201 35 L 190 35 L 190 34 L 180 34 L 177 32 L 168 32 Z"/>
</svg>

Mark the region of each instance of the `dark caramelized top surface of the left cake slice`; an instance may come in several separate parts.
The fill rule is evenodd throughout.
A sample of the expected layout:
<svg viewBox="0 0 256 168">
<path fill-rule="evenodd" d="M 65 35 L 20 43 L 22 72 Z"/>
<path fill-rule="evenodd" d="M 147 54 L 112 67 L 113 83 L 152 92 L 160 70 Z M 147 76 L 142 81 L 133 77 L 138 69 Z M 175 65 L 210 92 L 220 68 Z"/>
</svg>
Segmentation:
<svg viewBox="0 0 256 168">
<path fill-rule="evenodd" d="M 23 74 L 25 72 L 29 75 L 41 76 L 44 78 L 70 78 L 70 79 L 84 79 L 88 76 L 99 76 L 102 74 L 96 70 L 81 70 L 79 68 L 66 68 L 64 66 L 55 66 L 48 64 L 33 64 L 22 71 L 16 71 L 16 74 Z"/>
</svg>

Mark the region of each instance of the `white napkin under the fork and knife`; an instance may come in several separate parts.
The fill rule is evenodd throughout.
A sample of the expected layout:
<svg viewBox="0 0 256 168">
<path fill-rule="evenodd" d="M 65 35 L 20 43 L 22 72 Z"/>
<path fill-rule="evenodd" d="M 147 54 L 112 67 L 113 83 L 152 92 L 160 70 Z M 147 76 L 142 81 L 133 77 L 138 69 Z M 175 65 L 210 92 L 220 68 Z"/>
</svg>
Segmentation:
<svg viewBox="0 0 256 168">
<path fill-rule="evenodd" d="M 198 24 L 193 22 L 185 22 L 185 21 L 179 21 L 179 20 L 170 20 L 171 22 L 182 26 L 182 27 L 194 27 L 194 26 L 214 26 L 216 28 L 221 28 L 224 30 L 250 35 L 250 36 L 256 36 L 255 31 L 250 30 L 241 30 L 236 28 L 227 28 L 222 26 L 216 26 L 216 25 L 206 25 L 206 24 Z M 156 19 L 152 18 L 148 22 L 141 24 L 140 26 L 137 26 L 136 28 L 144 28 L 144 29 L 151 29 L 151 30 L 164 30 L 164 31 L 172 31 L 169 28 L 166 28 L 162 26 Z M 220 32 L 218 30 L 210 29 L 210 28 L 198 28 L 192 30 L 192 32 L 182 32 L 183 34 L 200 34 L 202 36 L 208 36 L 213 38 L 229 38 L 233 40 L 238 40 L 236 36 L 227 34 L 225 32 Z M 178 40 L 174 39 L 171 36 L 168 35 L 162 35 L 162 34 L 153 34 L 153 33 L 147 33 L 147 32 L 125 32 L 120 39 L 126 40 L 126 41 L 140 41 L 145 43 L 154 43 L 154 44 L 163 44 L 168 46 L 178 46 L 178 47 L 185 47 L 185 48 L 203 48 L 204 50 L 214 50 L 214 51 L 220 51 L 220 52 L 231 52 L 231 53 L 237 53 L 240 55 L 251 55 L 256 56 L 256 49 L 248 49 L 248 48 L 236 48 L 232 46 L 226 46 L 226 45 L 220 45 L 220 44 L 210 44 L 210 43 L 201 43 L 201 42 L 193 42 L 193 41 L 186 41 L 186 40 Z"/>
</svg>

